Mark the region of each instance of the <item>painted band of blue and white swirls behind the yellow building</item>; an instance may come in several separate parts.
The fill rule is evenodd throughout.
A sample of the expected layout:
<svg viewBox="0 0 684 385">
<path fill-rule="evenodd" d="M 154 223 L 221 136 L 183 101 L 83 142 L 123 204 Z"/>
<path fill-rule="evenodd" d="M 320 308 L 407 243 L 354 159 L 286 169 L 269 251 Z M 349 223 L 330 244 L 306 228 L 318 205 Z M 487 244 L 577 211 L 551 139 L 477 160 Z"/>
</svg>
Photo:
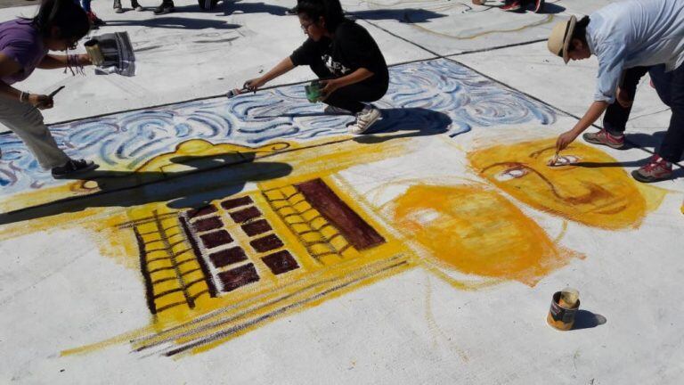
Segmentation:
<svg viewBox="0 0 684 385">
<path fill-rule="evenodd" d="M 420 129 L 439 129 L 444 127 L 446 115 L 451 119 L 446 133 L 452 137 L 475 127 L 549 125 L 556 120 L 555 112 L 542 103 L 444 59 L 391 68 L 389 90 L 375 104 L 381 109 L 441 112 L 435 117 L 400 114 L 401 123 L 403 127 L 415 123 Z M 51 131 L 69 156 L 99 160 L 102 168 L 132 170 L 189 139 L 255 146 L 345 135 L 346 125 L 354 119 L 324 115 L 322 109 L 321 103 L 306 101 L 304 86 L 285 86 L 232 99 L 220 97 L 83 119 L 53 126 Z M 391 121 L 379 125 L 382 130 L 391 126 Z M 16 135 L 0 135 L 0 148 L 0 196 L 65 183 L 42 170 Z"/>
</svg>

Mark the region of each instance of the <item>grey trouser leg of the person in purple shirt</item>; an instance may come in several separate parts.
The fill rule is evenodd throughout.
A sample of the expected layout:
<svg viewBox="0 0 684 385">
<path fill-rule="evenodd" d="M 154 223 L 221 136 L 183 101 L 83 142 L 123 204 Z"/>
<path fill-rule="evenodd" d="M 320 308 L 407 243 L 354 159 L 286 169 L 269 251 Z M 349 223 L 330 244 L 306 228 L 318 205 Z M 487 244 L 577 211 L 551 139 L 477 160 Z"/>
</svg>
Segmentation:
<svg viewBox="0 0 684 385">
<path fill-rule="evenodd" d="M 0 100 L 0 122 L 20 137 L 42 168 L 52 169 L 69 161 L 45 127 L 43 114 L 26 103 L 3 98 Z"/>
</svg>

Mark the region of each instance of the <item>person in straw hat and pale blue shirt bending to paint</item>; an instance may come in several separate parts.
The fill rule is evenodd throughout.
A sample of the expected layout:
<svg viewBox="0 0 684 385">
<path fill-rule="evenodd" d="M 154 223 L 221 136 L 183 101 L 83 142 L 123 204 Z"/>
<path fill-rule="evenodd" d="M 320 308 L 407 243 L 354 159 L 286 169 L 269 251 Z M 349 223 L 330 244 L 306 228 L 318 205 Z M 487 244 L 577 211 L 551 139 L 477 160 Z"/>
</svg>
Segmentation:
<svg viewBox="0 0 684 385">
<path fill-rule="evenodd" d="M 672 163 L 684 152 L 684 0 L 629 0 L 607 5 L 579 21 L 573 16 L 554 27 L 548 47 L 566 63 L 592 54 L 599 59 L 594 102 L 571 130 L 558 136 L 558 151 L 599 119 L 616 96 L 620 100 L 625 70 L 664 64 L 671 80 L 655 86 L 660 88 L 658 94 L 669 95 L 670 127 L 656 154 L 632 176 L 641 182 L 672 177 Z M 585 139 L 590 135 L 585 134 Z"/>
</svg>

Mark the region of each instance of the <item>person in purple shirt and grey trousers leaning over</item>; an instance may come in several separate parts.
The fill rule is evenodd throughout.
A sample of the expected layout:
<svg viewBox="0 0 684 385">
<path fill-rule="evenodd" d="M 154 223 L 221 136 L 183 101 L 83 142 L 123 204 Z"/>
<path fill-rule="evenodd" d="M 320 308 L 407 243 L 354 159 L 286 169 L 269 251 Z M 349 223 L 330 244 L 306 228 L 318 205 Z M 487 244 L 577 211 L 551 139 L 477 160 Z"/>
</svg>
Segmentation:
<svg viewBox="0 0 684 385">
<path fill-rule="evenodd" d="M 87 54 L 50 54 L 67 51 L 90 29 L 85 11 L 72 0 L 45 0 L 33 19 L 0 23 L 0 123 L 26 143 L 41 167 L 54 178 L 65 178 L 97 168 L 88 160 L 72 160 L 61 151 L 38 110 L 53 107 L 53 98 L 14 88 L 34 69 L 81 70 Z M 2 154 L 0 153 L 0 156 Z"/>
</svg>

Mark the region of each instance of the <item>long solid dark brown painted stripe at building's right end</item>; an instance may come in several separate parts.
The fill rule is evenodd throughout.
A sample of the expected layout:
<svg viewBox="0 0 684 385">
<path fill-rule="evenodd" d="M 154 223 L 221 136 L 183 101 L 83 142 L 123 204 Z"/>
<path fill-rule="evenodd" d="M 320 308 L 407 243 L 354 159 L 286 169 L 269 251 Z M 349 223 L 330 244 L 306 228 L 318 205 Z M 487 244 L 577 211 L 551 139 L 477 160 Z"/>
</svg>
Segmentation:
<svg viewBox="0 0 684 385">
<path fill-rule="evenodd" d="M 296 186 L 297 190 L 305 195 L 306 200 L 335 225 L 356 250 L 369 249 L 385 243 L 385 238 L 339 199 L 338 195 L 330 190 L 330 187 L 321 179 L 296 184 Z"/>
</svg>

